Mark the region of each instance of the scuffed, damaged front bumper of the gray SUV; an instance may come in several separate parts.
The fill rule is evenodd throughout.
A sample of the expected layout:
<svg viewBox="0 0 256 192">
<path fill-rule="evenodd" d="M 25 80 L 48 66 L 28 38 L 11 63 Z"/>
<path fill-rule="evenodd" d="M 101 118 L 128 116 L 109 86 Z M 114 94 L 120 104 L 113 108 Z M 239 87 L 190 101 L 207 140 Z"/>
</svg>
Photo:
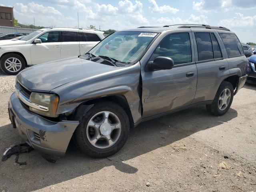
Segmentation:
<svg viewBox="0 0 256 192">
<path fill-rule="evenodd" d="M 20 136 L 34 149 L 50 156 L 64 156 L 78 121 L 52 122 L 30 112 L 13 93 L 8 105 L 9 116 Z"/>
</svg>

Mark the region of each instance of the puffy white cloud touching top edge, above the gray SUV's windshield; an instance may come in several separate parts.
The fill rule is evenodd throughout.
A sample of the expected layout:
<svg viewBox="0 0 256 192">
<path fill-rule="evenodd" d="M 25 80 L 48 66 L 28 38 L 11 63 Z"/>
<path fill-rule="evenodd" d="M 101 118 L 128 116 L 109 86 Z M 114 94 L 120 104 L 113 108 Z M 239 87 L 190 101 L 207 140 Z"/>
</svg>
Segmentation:
<svg viewBox="0 0 256 192">
<path fill-rule="evenodd" d="M 123 13 L 133 13 L 133 12 L 142 12 L 143 4 L 140 1 L 135 1 L 133 4 L 129 0 L 119 1 L 119 10 Z"/>
</svg>

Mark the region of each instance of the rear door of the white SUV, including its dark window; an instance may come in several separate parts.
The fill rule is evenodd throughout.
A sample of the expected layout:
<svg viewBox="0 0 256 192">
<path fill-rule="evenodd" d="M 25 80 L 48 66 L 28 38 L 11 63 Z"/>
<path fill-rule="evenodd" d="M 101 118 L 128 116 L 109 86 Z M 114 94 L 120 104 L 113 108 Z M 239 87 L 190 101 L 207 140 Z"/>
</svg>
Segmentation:
<svg viewBox="0 0 256 192">
<path fill-rule="evenodd" d="M 61 34 L 61 58 L 80 55 L 78 32 L 62 31 Z"/>
</svg>

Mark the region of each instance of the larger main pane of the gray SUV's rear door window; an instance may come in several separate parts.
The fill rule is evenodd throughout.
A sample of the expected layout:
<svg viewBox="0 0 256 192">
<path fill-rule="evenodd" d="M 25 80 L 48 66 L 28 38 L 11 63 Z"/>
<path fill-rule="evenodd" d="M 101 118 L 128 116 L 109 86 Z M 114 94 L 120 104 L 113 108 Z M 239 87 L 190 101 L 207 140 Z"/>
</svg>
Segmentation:
<svg viewBox="0 0 256 192">
<path fill-rule="evenodd" d="M 213 59 L 212 40 L 210 33 L 196 33 L 198 61 Z"/>
</svg>

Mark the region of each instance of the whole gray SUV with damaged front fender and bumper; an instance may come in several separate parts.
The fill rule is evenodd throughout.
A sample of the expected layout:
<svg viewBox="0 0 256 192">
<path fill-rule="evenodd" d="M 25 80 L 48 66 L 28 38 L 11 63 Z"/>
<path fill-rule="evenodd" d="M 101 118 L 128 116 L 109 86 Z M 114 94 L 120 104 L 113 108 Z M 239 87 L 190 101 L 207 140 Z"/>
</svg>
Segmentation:
<svg viewBox="0 0 256 192">
<path fill-rule="evenodd" d="M 84 55 L 20 72 L 10 120 L 47 156 L 63 156 L 73 137 L 82 152 L 106 157 L 146 120 L 198 104 L 225 114 L 244 86 L 246 66 L 236 34 L 223 27 L 122 30 Z"/>
</svg>

